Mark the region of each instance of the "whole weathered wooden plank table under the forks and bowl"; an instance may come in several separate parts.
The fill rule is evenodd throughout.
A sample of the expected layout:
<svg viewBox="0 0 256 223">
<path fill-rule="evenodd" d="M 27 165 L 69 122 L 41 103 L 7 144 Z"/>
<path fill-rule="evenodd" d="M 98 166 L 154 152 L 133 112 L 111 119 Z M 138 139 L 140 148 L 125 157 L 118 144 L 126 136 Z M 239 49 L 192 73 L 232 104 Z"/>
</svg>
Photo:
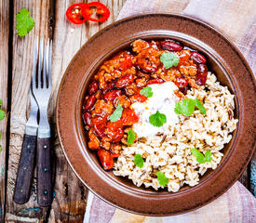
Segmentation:
<svg viewBox="0 0 256 223">
<path fill-rule="evenodd" d="M 0 218 L 2 222 L 82 222 L 87 205 L 87 188 L 75 177 L 67 164 L 56 133 L 55 102 L 61 77 L 75 52 L 90 36 L 112 23 L 126 0 L 101 1 L 111 9 L 111 17 L 101 24 L 86 22 L 74 25 L 65 19 L 66 8 L 82 1 L 74 0 L 2 0 L 0 1 L 0 98 L 7 117 L 0 123 L 3 147 L 0 156 Z M 89 1 L 88 1 L 89 2 Z M 177 12 L 188 0 L 182 0 Z M 26 7 L 35 21 L 34 30 L 19 37 L 15 29 L 15 15 Z M 180 8 L 180 9 L 179 9 Z M 24 127 L 28 117 L 29 88 L 32 74 L 35 36 L 53 39 L 53 96 L 49 117 L 54 138 L 54 201 L 51 207 L 41 208 L 36 203 L 35 181 L 29 203 L 13 202 L 13 190 L 20 159 Z M 240 181 L 249 187 L 249 168 Z M 34 175 L 35 176 L 35 175 Z"/>
</svg>

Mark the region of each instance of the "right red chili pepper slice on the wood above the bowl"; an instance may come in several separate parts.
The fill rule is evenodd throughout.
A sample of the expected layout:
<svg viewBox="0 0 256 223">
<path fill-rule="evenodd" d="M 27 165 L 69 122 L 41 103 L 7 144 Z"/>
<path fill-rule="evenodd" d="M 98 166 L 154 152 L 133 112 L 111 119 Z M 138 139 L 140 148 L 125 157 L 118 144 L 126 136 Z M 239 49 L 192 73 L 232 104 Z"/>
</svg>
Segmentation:
<svg viewBox="0 0 256 223">
<path fill-rule="evenodd" d="M 88 3 L 87 6 L 88 7 L 82 8 L 82 15 L 85 18 L 87 18 L 87 20 L 102 22 L 107 20 L 110 16 L 109 9 L 105 5 L 99 2 L 91 2 L 91 3 Z M 97 10 L 95 11 L 93 7 L 96 7 Z M 94 11 L 96 13 L 96 16 L 99 16 L 99 18 L 91 17 Z"/>
</svg>

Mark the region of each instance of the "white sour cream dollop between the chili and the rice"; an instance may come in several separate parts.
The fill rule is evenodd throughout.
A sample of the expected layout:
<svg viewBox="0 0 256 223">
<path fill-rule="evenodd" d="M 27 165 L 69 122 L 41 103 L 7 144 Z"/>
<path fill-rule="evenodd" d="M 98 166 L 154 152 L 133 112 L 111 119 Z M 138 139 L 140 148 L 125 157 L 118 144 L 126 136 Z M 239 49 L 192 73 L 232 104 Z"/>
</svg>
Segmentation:
<svg viewBox="0 0 256 223">
<path fill-rule="evenodd" d="M 180 99 L 174 94 L 178 87 L 172 82 L 149 86 L 152 88 L 153 97 L 147 98 L 143 103 L 136 102 L 131 105 L 131 108 L 139 115 L 139 122 L 132 127 L 138 138 L 152 138 L 156 134 L 164 134 L 169 125 L 179 122 L 178 115 L 174 112 L 175 104 Z M 167 123 L 161 127 L 149 123 L 149 116 L 157 111 L 167 116 Z"/>
</svg>

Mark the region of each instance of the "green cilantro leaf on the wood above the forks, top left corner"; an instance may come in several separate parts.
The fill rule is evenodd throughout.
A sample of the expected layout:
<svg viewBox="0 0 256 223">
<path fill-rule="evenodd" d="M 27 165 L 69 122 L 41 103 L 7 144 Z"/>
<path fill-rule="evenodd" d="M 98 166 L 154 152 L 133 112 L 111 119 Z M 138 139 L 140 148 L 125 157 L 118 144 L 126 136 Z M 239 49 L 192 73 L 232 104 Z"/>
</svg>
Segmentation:
<svg viewBox="0 0 256 223">
<path fill-rule="evenodd" d="M 16 15 L 16 30 L 20 36 L 30 33 L 34 28 L 34 19 L 27 8 L 22 8 Z"/>
</svg>

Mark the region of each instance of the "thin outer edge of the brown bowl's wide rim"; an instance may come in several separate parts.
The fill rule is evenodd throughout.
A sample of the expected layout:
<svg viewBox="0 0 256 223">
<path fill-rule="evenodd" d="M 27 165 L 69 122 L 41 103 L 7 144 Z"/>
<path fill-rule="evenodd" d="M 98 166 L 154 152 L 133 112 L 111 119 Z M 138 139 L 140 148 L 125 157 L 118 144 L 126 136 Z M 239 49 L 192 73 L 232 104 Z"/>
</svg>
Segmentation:
<svg viewBox="0 0 256 223">
<path fill-rule="evenodd" d="M 63 85 L 63 83 L 65 82 L 65 78 L 67 77 L 67 74 L 68 74 L 68 71 L 71 69 L 71 66 L 72 64 L 74 63 L 75 59 L 79 56 L 80 52 L 82 50 L 84 50 L 84 48 L 86 46 L 88 46 L 90 44 L 90 40 L 91 39 L 95 39 L 97 38 L 99 35 L 101 35 L 101 33 L 104 33 L 106 31 L 108 31 L 109 29 L 111 29 L 112 27 L 115 27 L 116 24 L 120 24 L 122 22 L 126 22 L 128 20 L 136 20 L 138 18 L 141 18 L 143 16 L 168 16 L 168 17 L 179 17 L 179 18 L 184 18 L 186 20 L 193 20 L 194 22 L 196 23 L 199 23 L 199 25 L 203 25 L 205 27 L 207 27 L 208 29 L 212 30 L 213 32 L 219 34 L 227 43 L 229 46 L 233 47 L 233 49 L 235 49 L 234 51 L 236 52 L 236 54 L 238 54 L 238 57 L 241 59 L 241 61 L 244 63 L 244 66 L 246 67 L 247 71 L 249 72 L 249 75 L 251 76 L 251 79 L 252 79 L 252 83 L 254 85 L 254 89 L 255 89 L 255 78 L 254 78 L 254 75 L 252 74 L 250 68 L 249 68 L 249 64 L 247 63 L 247 61 L 244 59 L 244 56 L 241 54 L 241 52 L 237 49 L 236 46 L 234 46 L 232 44 L 232 42 L 230 42 L 225 36 L 222 35 L 222 33 L 218 32 L 217 30 L 215 30 L 214 28 L 212 28 L 211 26 L 209 26 L 209 24 L 205 23 L 205 22 L 202 22 L 200 20 L 196 20 L 194 18 L 191 18 L 191 17 L 188 17 L 188 16 L 184 16 L 184 15 L 180 15 L 180 14 L 173 14 L 173 13 L 141 13 L 141 14 L 138 14 L 138 15 L 135 15 L 135 16 L 131 16 L 131 17 L 128 17 L 128 18 L 125 18 L 123 20 L 117 20 L 115 21 L 114 23 L 108 25 L 107 27 L 105 27 L 104 29 L 102 29 L 100 32 L 98 33 L 95 33 L 90 39 L 88 39 L 87 43 L 82 46 L 78 52 L 74 55 L 74 58 L 71 60 L 69 66 L 66 68 L 66 71 L 62 77 L 62 80 L 61 80 L 61 85 L 60 85 L 60 88 L 59 88 L 59 91 L 58 91 L 58 96 L 57 96 L 57 106 L 56 106 L 56 119 L 57 119 L 57 131 L 58 131 L 58 136 L 60 138 L 60 143 L 61 143 L 61 149 L 68 161 L 68 164 L 70 164 L 70 166 L 72 167 L 73 171 L 74 171 L 74 174 L 88 187 L 89 190 L 91 190 L 93 193 L 95 193 L 97 196 L 99 196 L 103 201 L 107 202 L 107 203 L 110 203 L 112 205 L 114 205 L 115 207 L 118 207 L 118 208 L 121 208 L 125 211 L 128 211 L 128 212 L 132 212 L 132 213 L 136 213 L 136 214 L 140 214 L 140 215 L 151 215 L 151 216 L 167 216 L 167 215 L 175 215 L 175 214 L 181 214 L 181 213 L 184 213 L 184 212 L 188 212 L 188 211 L 191 211 L 191 210 L 194 210 L 196 208 L 198 208 L 199 206 L 202 206 L 202 205 L 206 205 L 207 203 L 213 201 L 214 199 L 216 199 L 217 197 L 219 197 L 220 195 L 222 195 L 222 193 L 224 193 L 226 190 L 228 190 L 235 182 L 236 182 L 236 179 L 238 177 L 240 177 L 240 175 L 243 173 L 244 169 L 246 168 L 247 164 L 249 164 L 249 160 L 250 158 L 252 157 L 253 155 L 253 152 L 250 153 L 249 155 L 249 159 L 247 161 L 247 164 L 243 166 L 242 169 L 240 169 L 239 171 L 239 175 L 236 175 L 236 179 L 233 180 L 232 184 L 229 184 L 228 187 L 224 188 L 221 192 L 219 192 L 219 194 L 216 194 L 216 196 L 214 197 L 211 197 L 209 198 L 208 201 L 205 201 L 204 203 L 201 203 L 199 206 L 195 206 L 194 208 L 192 209 L 188 209 L 188 210 L 182 210 L 182 211 L 179 211 L 177 213 L 165 213 L 164 215 L 159 215 L 159 214 L 154 214 L 154 213 L 145 213 L 145 212 L 138 212 L 138 211 L 134 211 L 134 210 L 131 210 L 131 209 L 128 209 L 127 207 L 120 207 L 118 206 L 117 203 L 112 203 L 112 201 L 108 201 L 106 200 L 104 197 L 101 196 L 101 194 L 95 192 L 93 189 L 91 189 L 91 187 L 83 180 L 82 177 L 79 176 L 79 174 L 77 173 L 77 171 L 74 169 L 74 165 L 72 164 L 72 162 L 70 161 L 69 159 L 69 156 L 68 154 L 66 153 L 65 151 L 65 146 L 63 145 L 63 140 L 61 138 L 61 129 L 60 129 L 60 97 L 61 97 L 61 86 Z M 88 69 L 89 70 L 89 69 Z M 237 96 L 238 98 L 238 96 Z M 255 144 L 254 144 L 254 149 L 255 150 Z M 175 197 L 175 194 L 171 194 L 173 197 Z"/>
</svg>

